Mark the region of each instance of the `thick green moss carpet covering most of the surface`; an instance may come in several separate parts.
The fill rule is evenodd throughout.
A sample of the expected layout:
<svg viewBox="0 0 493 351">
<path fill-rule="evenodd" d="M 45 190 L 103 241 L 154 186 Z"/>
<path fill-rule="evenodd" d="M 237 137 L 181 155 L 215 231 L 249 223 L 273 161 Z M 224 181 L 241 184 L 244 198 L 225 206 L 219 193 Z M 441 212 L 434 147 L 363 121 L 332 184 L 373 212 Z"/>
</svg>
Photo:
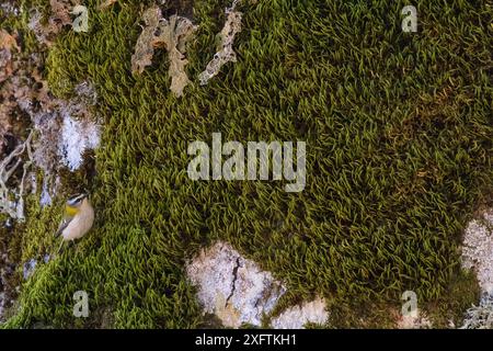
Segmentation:
<svg viewBox="0 0 493 351">
<path fill-rule="evenodd" d="M 67 93 L 59 82 L 87 79 L 99 92 L 103 147 L 88 182 L 98 220 L 23 284 L 8 327 L 98 325 L 72 317 L 79 290 L 91 310 L 111 312 L 114 327 L 196 327 L 205 321 L 183 265 L 216 239 L 274 272 L 296 298 L 333 301 L 335 326 L 391 326 L 388 312 L 405 290 L 432 309 L 477 298 L 450 286 L 462 274 L 460 234 L 493 185 L 491 30 L 480 1 L 420 2 L 416 34 L 401 33 L 402 1 L 242 5 L 239 60 L 206 87 L 196 77 L 226 2 L 195 1 L 194 83 L 182 99 L 169 91 L 164 53 L 130 75 L 151 1 L 121 2 L 99 11 L 87 1 L 90 32 L 67 29 L 49 52 L 57 93 Z M 187 145 L 213 132 L 241 143 L 306 140 L 305 191 L 191 181 Z M 56 217 L 30 204 L 37 218 L 26 224 L 23 257 L 50 242 Z"/>
</svg>

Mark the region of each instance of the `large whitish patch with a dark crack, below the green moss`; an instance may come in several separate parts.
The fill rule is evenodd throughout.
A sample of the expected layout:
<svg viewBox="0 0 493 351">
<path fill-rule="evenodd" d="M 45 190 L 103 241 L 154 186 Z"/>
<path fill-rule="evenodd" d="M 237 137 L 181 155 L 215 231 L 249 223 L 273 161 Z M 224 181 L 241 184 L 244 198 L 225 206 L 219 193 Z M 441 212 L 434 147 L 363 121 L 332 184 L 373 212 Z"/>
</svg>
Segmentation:
<svg viewBox="0 0 493 351">
<path fill-rule="evenodd" d="M 226 327 L 260 326 L 286 291 L 270 272 L 221 241 L 202 250 L 186 271 L 205 313 L 217 315 Z"/>
</svg>

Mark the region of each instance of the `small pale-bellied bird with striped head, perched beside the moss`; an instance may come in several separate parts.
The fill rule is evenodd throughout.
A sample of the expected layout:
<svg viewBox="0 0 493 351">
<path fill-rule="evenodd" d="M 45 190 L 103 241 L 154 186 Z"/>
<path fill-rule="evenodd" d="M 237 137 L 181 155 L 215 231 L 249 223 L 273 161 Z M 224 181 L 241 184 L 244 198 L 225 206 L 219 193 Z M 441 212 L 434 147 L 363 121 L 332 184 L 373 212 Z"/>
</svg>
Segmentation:
<svg viewBox="0 0 493 351">
<path fill-rule="evenodd" d="M 94 223 L 94 208 L 89 202 L 88 194 L 77 194 L 67 200 L 65 204 L 65 216 L 55 234 L 56 237 L 62 236 L 66 241 L 73 241 L 83 237 Z"/>
</svg>

